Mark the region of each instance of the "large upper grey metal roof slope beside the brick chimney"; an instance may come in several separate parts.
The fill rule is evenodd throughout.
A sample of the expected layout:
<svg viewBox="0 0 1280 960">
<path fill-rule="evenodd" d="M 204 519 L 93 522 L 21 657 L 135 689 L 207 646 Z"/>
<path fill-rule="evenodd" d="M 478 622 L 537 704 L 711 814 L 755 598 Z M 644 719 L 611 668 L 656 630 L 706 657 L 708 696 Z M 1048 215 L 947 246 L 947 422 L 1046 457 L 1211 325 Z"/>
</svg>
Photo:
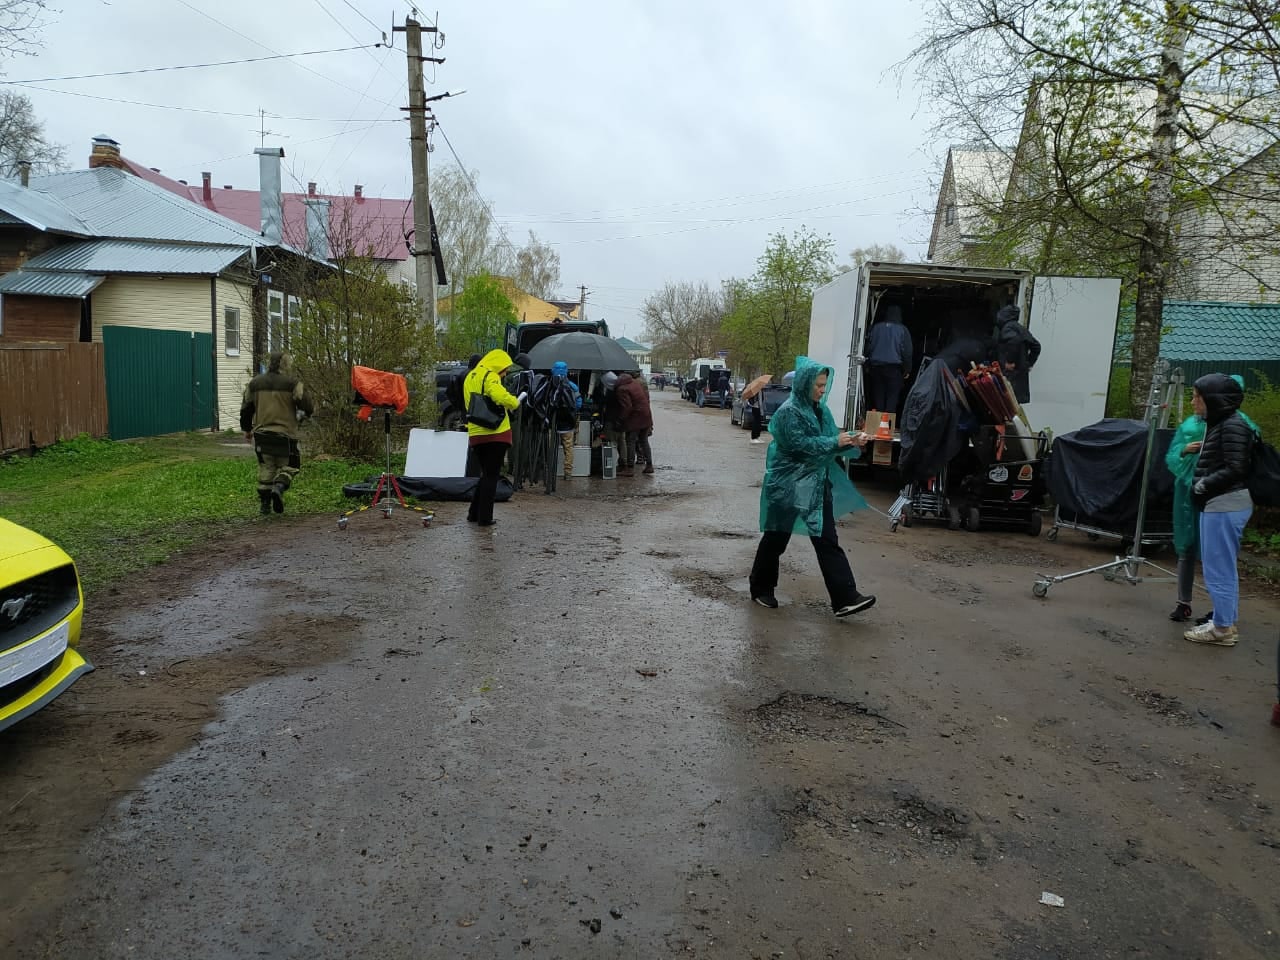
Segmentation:
<svg viewBox="0 0 1280 960">
<path fill-rule="evenodd" d="M 91 237 L 242 247 L 262 243 L 257 230 L 111 166 L 32 177 L 31 189 L 83 220 Z M 0 209 L 8 207 L 0 202 Z"/>
</svg>

